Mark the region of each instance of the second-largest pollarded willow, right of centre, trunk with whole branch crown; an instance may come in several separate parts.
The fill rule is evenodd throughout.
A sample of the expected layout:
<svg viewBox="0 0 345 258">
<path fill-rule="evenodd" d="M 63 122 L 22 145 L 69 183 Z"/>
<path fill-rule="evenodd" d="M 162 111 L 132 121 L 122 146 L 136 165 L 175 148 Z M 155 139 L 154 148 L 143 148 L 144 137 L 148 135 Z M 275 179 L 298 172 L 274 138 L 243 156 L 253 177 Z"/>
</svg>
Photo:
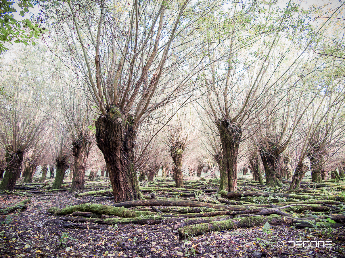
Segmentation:
<svg viewBox="0 0 345 258">
<path fill-rule="evenodd" d="M 275 13 L 268 11 L 271 9 L 256 3 L 234 3 L 214 19 L 214 30 L 207 34 L 204 51 L 208 62 L 203 77 L 208 110 L 219 131 L 229 191 L 236 190 L 240 142 L 264 125 L 268 105 L 299 83 L 303 76 L 286 84 L 300 75 L 297 67 L 310 61 L 304 55 L 312 42 L 310 37 L 304 38 L 306 17 L 294 19 L 299 11 L 295 4 L 275 9 Z M 297 38 L 296 31 L 305 34 Z M 270 111 L 275 108 L 270 106 Z"/>
</svg>

